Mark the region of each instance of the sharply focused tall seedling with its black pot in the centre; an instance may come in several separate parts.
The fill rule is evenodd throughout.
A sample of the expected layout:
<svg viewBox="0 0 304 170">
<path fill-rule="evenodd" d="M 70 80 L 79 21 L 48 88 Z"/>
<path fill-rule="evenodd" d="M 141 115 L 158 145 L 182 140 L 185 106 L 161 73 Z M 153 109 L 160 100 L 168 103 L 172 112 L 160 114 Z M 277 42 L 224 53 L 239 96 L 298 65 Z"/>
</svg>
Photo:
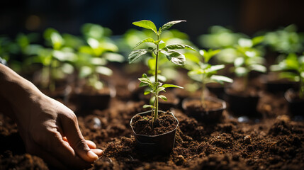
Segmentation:
<svg viewBox="0 0 304 170">
<path fill-rule="evenodd" d="M 134 62 L 147 54 L 147 52 L 150 52 L 152 57 L 155 57 L 154 79 L 149 79 L 147 74 L 142 74 L 142 78 L 139 79 L 140 86 L 148 87 L 145 94 L 153 95 L 153 103 L 151 105 L 143 106 L 144 108 L 151 108 L 151 111 L 138 113 L 130 120 L 130 126 L 137 141 L 137 148 L 147 154 L 168 154 L 174 147 L 175 133 L 179 121 L 172 113 L 169 113 L 168 111 L 159 111 L 159 99 L 167 101 L 167 97 L 159 93 L 164 92 L 165 89 L 169 87 L 182 87 L 173 84 L 162 84 L 159 81 L 158 60 L 159 57 L 166 56 L 167 59 L 174 64 L 184 65 L 184 62 L 186 61 L 185 56 L 178 50 L 194 50 L 188 45 L 166 45 L 166 43 L 160 39 L 164 30 L 181 22 L 183 21 L 171 21 L 164 24 L 158 31 L 152 21 L 142 20 L 133 23 L 135 26 L 152 30 L 154 35 L 156 35 L 156 40 L 154 40 L 154 38 L 146 38 L 135 45 L 135 47 L 137 47 L 143 43 L 148 43 L 150 44 L 150 47 L 133 50 L 129 55 L 129 63 Z"/>
</svg>

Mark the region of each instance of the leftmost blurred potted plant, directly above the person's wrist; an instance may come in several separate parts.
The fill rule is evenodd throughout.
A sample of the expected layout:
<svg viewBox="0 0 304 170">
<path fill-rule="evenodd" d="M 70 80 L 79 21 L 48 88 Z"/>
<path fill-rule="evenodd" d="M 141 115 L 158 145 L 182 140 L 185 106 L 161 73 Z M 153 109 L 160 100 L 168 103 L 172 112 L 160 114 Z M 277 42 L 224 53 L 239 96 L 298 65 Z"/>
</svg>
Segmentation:
<svg viewBox="0 0 304 170">
<path fill-rule="evenodd" d="M 40 45 L 28 45 L 26 54 L 28 58 L 24 62 L 24 67 L 35 67 L 40 64 L 42 69 L 38 74 L 34 74 L 33 83 L 38 84 L 41 90 L 52 98 L 66 98 L 70 92 L 69 76 L 74 72 L 73 62 L 77 57 L 74 51 L 64 47 L 64 40 L 60 33 L 53 28 L 48 28 L 44 32 L 45 44 L 50 47 Z"/>
</svg>

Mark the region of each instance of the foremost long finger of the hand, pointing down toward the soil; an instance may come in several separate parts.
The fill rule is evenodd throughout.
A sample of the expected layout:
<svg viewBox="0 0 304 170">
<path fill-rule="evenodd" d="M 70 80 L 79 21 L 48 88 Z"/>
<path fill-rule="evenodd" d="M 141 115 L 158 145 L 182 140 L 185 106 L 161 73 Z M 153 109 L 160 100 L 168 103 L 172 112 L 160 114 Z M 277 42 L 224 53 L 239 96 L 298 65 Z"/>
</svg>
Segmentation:
<svg viewBox="0 0 304 170">
<path fill-rule="evenodd" d="M 84 140 L 84 137 L 79 130 L 77 117 L 74 113 L 70 113 L 69 116 L 62 118 L 62 131 L 64 136 L 67 137 L 69 145 L 74 149 L 79 157 L 84 159 L 86 162 L 94 162 L 98 159 L 97 154 L 89 148 L 86 140 Z"/>
</svg>

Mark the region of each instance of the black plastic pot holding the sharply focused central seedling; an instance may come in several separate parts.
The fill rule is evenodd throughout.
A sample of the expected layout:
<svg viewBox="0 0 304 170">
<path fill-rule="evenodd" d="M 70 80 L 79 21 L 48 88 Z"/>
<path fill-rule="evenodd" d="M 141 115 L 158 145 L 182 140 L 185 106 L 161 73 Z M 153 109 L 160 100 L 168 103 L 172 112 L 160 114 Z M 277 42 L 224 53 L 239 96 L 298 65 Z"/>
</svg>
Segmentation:
<svg viewBox="0 0 304 170">
<path fill-rule="evenodd" d="M 151 115 L 152 111 L 146 111 L 142 113 L 137 113 L 137 115 Z M 164 113 L 164 111 L 159 111 L 159 113 Z M 179 120 L 175 118 L 173 113 L 170 114 L 174 117 L 177 121 L 176 128 L 179 126 Z M 135 116 L 133 116 L 134 118 Z M 130 126 L 133 130 L 135 140 L 136 140 L 136 147 L 137 149 L 145 154 L 149 155 L 156 155 L 156 154 L 169 154 L 175 143 L 175 134 L 176 128 L 169 132 L 164 132 L 160 135 L 142 135 L 137 134 L 133 129 L 133 118 L 130 120 Z"/>
</svg>

